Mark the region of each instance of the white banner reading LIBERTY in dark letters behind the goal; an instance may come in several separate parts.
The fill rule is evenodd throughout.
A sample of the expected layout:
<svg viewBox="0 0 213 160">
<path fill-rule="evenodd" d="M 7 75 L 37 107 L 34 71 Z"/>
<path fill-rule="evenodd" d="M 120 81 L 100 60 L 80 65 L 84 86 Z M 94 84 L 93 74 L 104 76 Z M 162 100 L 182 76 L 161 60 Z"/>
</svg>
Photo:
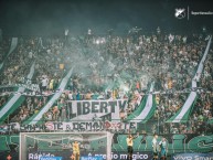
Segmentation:
<svg viewBox="0 0 213 160">
<path fill-rule="evenodd" d="M 71 100 L 68 102 L 68 118 L 71 120 L 97 120 L 109 117 L 120 120 L 119 111 L 125 108 L 126 99 L 115 100 Z"/>
</svg>

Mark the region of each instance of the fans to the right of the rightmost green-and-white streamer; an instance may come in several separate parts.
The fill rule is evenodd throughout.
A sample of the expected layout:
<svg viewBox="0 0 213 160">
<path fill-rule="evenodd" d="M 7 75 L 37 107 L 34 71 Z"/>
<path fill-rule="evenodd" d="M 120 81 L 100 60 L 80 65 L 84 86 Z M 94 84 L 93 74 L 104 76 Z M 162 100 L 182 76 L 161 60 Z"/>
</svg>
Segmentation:
<svg viewBox="0 0 213 160">
<path fill-rule="evenodd" d="M 213 47 L 211 47 L 210 53 L 207 54 L 204 71 L 201 76 L 200 86 L 206 90 L 213 90 Z M 213 126 L 209 121 L 213 120 L 213 94 L 203 93 L 199 95 L 194 109 L 191 116 L 191 126 L 195 128 L 194 131 L 203 132 L 213 132 Z"/>
</svg>

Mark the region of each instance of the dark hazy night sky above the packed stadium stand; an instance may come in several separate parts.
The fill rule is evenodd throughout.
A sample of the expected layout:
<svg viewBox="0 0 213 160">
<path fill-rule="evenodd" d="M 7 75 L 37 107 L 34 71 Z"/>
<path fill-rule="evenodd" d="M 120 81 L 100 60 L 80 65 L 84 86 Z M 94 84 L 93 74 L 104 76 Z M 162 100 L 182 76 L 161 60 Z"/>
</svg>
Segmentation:
<svg viewBox="0 0 213 160">
<path fill-rule="evenodd" d="M 213 15 L 174 18 L 175 8 L 212 11 L 210 0 L 1 0 L 0 28 L 10 35 L 63 34 L 68 28 L 79 34 L 90 28 L 117 33 L 132 26 L 153 31 L 159 25 L 167 31 L 194 31 L 206 26 L 213 31 Z"/>
</svg>

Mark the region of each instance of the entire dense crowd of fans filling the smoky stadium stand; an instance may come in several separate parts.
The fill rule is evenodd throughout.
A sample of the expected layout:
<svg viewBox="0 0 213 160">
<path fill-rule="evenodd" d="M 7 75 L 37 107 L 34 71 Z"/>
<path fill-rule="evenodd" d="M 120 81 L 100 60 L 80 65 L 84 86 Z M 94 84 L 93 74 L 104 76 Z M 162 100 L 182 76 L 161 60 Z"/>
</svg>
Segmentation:
<svg viewBox="0 0 213 160">
<path fill-rule="evenodd" d="M 182 90 L 191 87 L 200 60 L 206 47 L 202 34 L 173 35 L 129 33 L 126 36 L 21 38 L 6 63 L 0 76 L 1 85 L 22 83 L 35 63 L 33 84 L 40 85 L 40 96 L 26 96 L 24 103 L 10 116 L 11 121 L 24 121 L 36 114 L 56 92 L 63 76 L 71 67 L 74 73 L 66 90 L 43 115 L 43 120 L 68 120 L 67 100 L 128 99 L 126 115 L 137 109 L 151 82 L 155 90 Z M 212 50 L 199 83 L 212 88 Z M 153 131 L 192 134 L 203 132 L 203 122 L 212 118 L 212 95 L 200 94 L 188 124 L 166 124 L 184 104 L 184 94 L 156 95 L 157 110 L 151 120 Z M 1 106 L 8 97 L 1 97 Z M 200 126 L 200 127 L 199 127 Z M 205 125 L 205 131 L 210 128 Z M 201 128 L 201 129 L 200 129 Z M 200 130 L 199 130 L 200 129 Z M 211 130 L 211 129 L 210 129 Z"/>
</svg>

